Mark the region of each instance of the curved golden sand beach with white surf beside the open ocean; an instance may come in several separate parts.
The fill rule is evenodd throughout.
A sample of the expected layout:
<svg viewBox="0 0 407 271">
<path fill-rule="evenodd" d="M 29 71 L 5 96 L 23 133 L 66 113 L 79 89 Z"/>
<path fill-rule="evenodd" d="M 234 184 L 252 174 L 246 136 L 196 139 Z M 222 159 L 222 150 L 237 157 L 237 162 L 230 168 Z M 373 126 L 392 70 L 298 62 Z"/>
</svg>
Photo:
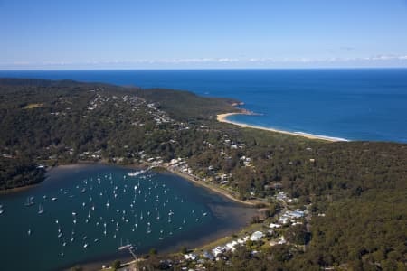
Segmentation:
<svg viewBox="0 0 407 271">
<path fill-rule="evenodd" d="M 268 128 L 268 127 L 263 127 L 263 126 L 253 126 L 253 125 L 247 125 L 243 124 L 240 122 L 235 122 L 232 120 L 229 120 L 228 117 L 234 116 L 234 115 L 254 115 L 252 113 L 247 113 L 247 112 L 239 112 L 239 113 L 223 113 L 223 114 L 218 114 L 216 116 L 216 120 L 222 123 L 228 123 L 232 124 L 235 126 L 240 126 L 241 128 L 252 128 L 252 129 L 258 129 L 258 130 L 263 130 L 263 131 L 269 131 L 269 132 L 274 132 L 274 133 L 279 133 L 279 134 L 284 134 L 284 135 L 295 135 L 295 136 L 301 136 L 305 137 L 308 139 L 314 139 L 314 140 L 325 140 L 329 142 L 343 142 L 343 141 L 348 141 L 345 138 L 339 138 L 339 137 L 330 137 L 330 136 L 324 136 L 324 135 L 310 135 L 307 133 L 302 133 L 302 132 L 289 132 L 289 131 L 284 131 L 284 130 L 279 130 L 279 129 L 274 129 L 274 128 Z"/>
</svg>

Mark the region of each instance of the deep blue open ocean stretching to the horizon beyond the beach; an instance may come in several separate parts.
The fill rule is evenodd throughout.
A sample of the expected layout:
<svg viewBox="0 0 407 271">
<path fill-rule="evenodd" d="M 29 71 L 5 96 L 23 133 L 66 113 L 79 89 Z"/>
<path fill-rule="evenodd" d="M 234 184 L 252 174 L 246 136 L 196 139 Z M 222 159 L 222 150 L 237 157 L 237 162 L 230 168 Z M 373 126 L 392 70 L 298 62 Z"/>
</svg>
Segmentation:
<svg viewBox="0 0 407 271">
<path fill-rule="evenodd" d="M 407 142 L 407 69 L 0 71 L 0 77 L 75 79 L 184 89 L 237 98 L 260 116 L 232 120 L 348 140 Z"/>
</svg>

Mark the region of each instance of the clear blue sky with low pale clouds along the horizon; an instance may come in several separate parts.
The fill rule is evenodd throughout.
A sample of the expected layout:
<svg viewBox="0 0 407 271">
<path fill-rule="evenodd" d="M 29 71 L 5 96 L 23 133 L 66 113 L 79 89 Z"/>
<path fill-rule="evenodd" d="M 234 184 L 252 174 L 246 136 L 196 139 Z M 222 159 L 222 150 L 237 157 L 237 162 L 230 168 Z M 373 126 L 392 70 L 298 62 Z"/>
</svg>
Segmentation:
<svg viewBox="0 0 407 271">
<path fill-rule="evenodd" d="M 407 0 L 0 0 L 0 70 L 407 67 Z"/>
</svg>

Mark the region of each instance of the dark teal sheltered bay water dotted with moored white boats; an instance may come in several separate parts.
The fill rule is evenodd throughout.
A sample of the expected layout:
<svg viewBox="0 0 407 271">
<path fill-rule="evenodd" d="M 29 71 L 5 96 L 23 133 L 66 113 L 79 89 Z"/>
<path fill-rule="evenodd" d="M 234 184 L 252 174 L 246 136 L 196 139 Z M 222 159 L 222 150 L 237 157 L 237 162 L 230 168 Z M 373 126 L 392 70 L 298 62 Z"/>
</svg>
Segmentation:
<svg viewBox="0 0 407 271">
<path fill-rule="evenodd" d="M 178 249 L 181 244 L 191 248 L 240 229 L 253 214 L 174 174 L 130 177 L 130 171 L 102 164 L 63 166 L 52 169 L 40 185 L 0 195 L 2 269 L 109 264 L 130 257 L 128 251 L 118 251 L 128 242 L 136 253 Z M 33 205 L 27 207 L 29 197 Z"/>
</svg>

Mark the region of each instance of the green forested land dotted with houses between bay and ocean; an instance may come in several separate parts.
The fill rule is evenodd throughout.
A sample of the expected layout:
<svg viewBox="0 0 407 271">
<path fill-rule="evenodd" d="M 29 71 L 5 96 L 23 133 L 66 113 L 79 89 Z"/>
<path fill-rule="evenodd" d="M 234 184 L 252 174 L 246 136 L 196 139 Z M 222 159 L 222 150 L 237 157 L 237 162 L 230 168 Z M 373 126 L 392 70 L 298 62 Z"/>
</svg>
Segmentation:
<svg viewBox="0 0 407 271">
<path fill-rule="evenodd" d="M 407 145 L 309 140 L 216 121 L 229 98 L 105 84 L 0 79 L 0 189 L 43 180 L 39 164 L 168 163 L 241 199 L 283 190 L 311 204 L 307 250 L 295 244 L 232 256 L 216 270 L 321 267 L 403 270 Z M 324 216 L 318 216 L 323 213 Z"/>
</svg>

